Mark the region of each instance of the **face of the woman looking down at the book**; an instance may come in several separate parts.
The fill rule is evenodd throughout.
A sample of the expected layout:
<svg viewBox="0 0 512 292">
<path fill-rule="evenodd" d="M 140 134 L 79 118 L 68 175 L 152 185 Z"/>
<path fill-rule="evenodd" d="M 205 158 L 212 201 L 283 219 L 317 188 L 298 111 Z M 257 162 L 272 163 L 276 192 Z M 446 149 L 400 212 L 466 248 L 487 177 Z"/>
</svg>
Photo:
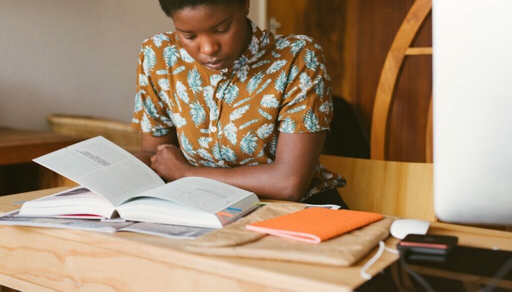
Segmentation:
<svg viewBox="0 0 512 292">
<path fill-rule="evenodd" d="M 201 5 L 173 12 L 183 48 L 209 69 L 228 68 L 250 40 L 248 7 L 249 0 L 245 5 Z"/>
</svg>

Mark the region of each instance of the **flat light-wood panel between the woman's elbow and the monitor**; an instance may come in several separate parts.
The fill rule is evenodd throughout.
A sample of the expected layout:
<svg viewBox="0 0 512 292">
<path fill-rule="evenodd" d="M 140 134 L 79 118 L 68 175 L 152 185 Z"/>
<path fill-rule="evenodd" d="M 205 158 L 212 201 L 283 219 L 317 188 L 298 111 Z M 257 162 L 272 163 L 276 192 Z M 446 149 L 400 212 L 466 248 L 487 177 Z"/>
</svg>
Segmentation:
<svg viewBox="0 0 512 292">
<path fill-rule="evenodd" d="M 342 174 L 345 203 L 360 211 L 434 221 L 433 165 L 322 155 L 320 162 Z"/>
</svg>

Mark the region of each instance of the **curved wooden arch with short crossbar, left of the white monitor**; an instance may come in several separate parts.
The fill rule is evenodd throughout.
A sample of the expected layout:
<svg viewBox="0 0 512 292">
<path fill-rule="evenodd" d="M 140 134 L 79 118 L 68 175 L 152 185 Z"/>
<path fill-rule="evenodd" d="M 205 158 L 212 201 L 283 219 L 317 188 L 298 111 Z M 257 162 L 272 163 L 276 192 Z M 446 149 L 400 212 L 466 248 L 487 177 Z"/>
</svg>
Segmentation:
<svg viewBox="0 0 512 292">
<path fill-rule="evenodd" d="M 402 72 L 406 56 L 432 55 L 432 48 L 410 47 L 421 24 L 432 10 L 432 0 L 416 0 L 403 20 L 391 44 L 391 48 L 382 67 L 375 101 L 373 104 L 372 127 L 370 138 L 370 157 L 386 160 L 387 129 L 395 85 Z M 430 101 L 432 108 L 432 98 Z M 426 132 L 426 162 L 432 162 L 432 114 L 429 111 Z M 429 136 L 430 135 L 430 136 Z"/>
</svg>

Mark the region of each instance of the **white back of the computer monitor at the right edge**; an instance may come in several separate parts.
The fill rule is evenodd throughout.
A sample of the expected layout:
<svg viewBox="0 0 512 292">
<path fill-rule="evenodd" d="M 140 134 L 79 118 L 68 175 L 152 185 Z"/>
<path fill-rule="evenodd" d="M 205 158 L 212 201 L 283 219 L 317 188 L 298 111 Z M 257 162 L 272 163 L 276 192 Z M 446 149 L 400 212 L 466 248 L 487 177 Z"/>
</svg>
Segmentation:
<svg viewBox="0 0 512 292">
<path fill-rule="evenodd" d="M 512 225 L 512 0 L 434 0 L 434 208 Z"/>
</svg>

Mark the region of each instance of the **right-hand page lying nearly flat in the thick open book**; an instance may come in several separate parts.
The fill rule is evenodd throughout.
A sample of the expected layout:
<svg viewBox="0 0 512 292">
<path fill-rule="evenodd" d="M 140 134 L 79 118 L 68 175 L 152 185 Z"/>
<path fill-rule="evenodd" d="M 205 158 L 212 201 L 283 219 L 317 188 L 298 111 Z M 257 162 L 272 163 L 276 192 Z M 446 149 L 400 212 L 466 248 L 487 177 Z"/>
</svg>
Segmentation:
<svg viewBox="0 0 512 292">
<path fill-rule="evenodd" d="M 174 201 L 215 214 L 254 193 L 214 179 L 184 177 L 140 195 Z"/>
</svg>

